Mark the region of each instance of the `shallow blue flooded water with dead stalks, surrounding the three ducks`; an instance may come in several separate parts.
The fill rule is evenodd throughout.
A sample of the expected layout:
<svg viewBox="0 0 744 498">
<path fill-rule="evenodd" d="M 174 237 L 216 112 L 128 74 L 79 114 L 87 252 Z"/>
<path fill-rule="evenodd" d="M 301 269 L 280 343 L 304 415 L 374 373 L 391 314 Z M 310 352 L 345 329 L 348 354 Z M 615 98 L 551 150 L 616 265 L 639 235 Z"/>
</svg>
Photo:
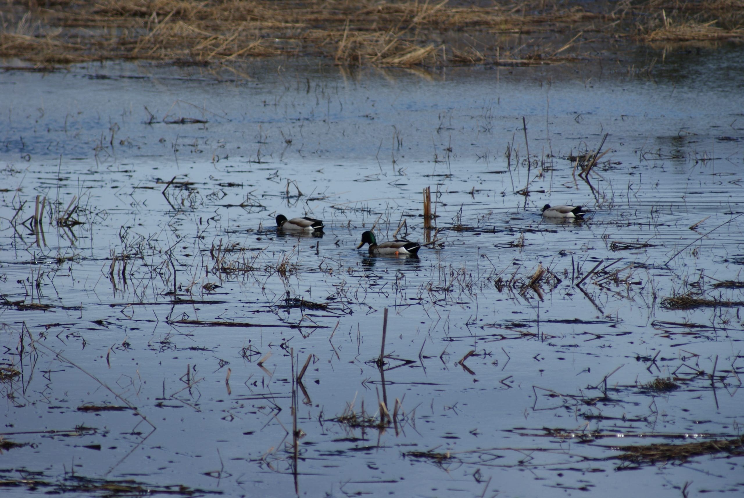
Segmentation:
<svg viewBox="0 0 744 498">
<path fill-rule="evenodd" d="M 1 74 L 0 489 L 742 493 L 743 55 Z"/>
</svg>

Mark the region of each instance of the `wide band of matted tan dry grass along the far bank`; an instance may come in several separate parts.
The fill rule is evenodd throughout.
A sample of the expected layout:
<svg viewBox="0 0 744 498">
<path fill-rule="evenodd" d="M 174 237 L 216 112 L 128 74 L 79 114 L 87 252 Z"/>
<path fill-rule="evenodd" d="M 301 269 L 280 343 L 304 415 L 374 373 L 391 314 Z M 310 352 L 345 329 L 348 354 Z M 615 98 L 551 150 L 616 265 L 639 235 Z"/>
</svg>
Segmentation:
<svg viewBox="0 0 744 498">
<path fill-rule="evenodd" d="M 545 1 L 473 3 L 7 0 L 0 4 L 0 56 L 39 67 L 110 59 L 230 64 L 268 56 L 323 56 L 343 65 L 532 65 L 589 56 L 577 50 L 597 39 L 743 36 L 742 1 L 646 1 L 609 4 L 615 10 L 603 12 Z M 628 36 L 634 27 L 637 36 Z"/>
</svg>

